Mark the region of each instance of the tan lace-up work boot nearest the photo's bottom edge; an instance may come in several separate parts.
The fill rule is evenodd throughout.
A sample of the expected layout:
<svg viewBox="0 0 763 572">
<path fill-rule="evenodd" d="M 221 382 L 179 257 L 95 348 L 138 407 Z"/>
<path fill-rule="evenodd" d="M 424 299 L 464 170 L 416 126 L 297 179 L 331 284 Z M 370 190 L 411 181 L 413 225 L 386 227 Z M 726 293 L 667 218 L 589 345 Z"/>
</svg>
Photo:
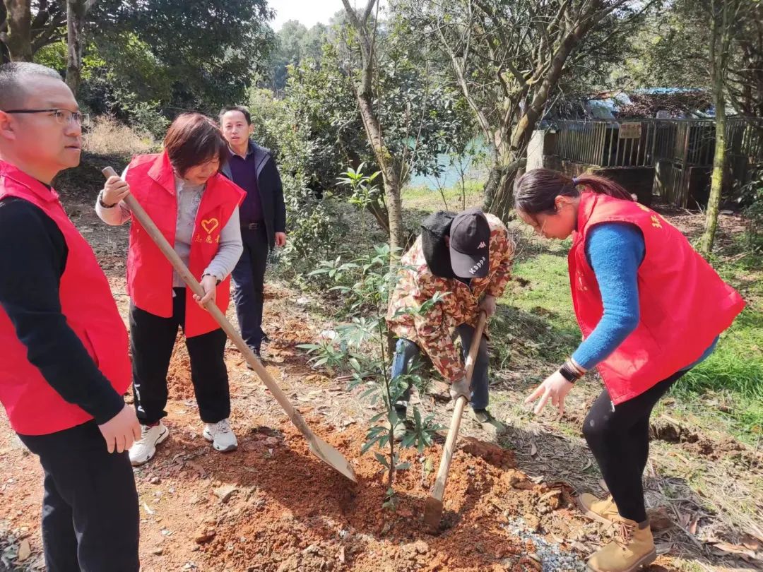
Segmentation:
<svg viewBox="0 0 763 572">
<path fill-rule="evenodd" d="M 649 521 L 640 528 L 637 522 L 620 519 L 615 539 L 588 558 L 588 569 L 594 572 L 635 572 L 657 559 L 655 541 Z"/>
</svg>

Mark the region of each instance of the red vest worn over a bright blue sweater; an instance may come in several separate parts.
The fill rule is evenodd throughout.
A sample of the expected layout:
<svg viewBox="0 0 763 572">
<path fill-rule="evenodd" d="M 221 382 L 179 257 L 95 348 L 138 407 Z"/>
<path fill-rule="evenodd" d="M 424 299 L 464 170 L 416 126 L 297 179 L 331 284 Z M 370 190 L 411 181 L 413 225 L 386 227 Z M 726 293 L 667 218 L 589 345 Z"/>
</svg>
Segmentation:
<svg viewBox="0 0 763 572">
<path fill-rule="evenodd" d="M 745 303 L 654 210 L 584 192 L 568 255 L 572 302 L 584 337 L 604 313 L 594 270 L 585 257 L 585 240 L 597 224 L 611 222 L 639 227 L 646 247 L 638 273 L 639 325 L 598 365 L 617 405 L 695 362 Z"/>
</svg>

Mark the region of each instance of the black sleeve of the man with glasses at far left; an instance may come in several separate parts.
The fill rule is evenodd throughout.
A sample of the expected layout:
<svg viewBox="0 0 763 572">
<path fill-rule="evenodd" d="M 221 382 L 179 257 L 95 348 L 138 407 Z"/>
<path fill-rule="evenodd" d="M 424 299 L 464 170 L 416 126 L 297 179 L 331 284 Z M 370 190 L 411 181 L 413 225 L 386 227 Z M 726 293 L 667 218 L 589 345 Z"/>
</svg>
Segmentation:
<svg viewBox="0 0 763 572">
<path fill-rule="evenodd" d="M 61 313 L 60 281 L 68 249 L 56 223 L 18 198 L 0 201 L 0 306 L 13 323 L 27 358 L 68 403 L 99 425 L 124 400 L 95 365 Z"/>
</svg>

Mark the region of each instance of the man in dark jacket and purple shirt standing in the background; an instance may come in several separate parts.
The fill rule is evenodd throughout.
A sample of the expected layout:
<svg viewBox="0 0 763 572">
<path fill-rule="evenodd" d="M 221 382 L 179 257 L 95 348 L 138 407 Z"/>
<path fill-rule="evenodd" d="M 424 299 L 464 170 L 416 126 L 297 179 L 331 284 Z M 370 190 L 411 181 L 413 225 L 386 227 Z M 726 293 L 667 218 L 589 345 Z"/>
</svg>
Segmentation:
<svg viewBox="0 0 763 572">
<path fill-rule="evenodd" d="M 230 149 L 223 174 L 246 191 L 241 204 L 243 254 L 231 277 L 236 291 L 236 313 L 241 335 L 259 357 L 260 346 L 269 342 L 262 331 L 262 301 L 268 253 L 286 244 L 286 205 L 281 175 L 268 149 L 250 137 L 254 132 L 249 110 L 224 108 L 220 124 Z"/>
</svg>

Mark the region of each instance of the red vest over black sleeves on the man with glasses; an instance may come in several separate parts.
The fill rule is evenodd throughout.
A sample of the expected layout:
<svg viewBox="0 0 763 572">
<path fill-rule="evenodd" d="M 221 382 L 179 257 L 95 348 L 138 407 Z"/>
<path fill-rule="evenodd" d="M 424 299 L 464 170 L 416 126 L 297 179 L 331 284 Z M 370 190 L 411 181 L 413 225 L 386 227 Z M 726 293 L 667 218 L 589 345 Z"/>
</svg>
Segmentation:
<svg viewBox="0 0 763 572">
<path fill-rule="evenodd" d="M 61 313 L 101 373 L 119 394 L 124 394 L 130 385 L 127 330 L 89 244 L 66 216 L 55 191 L 14 165 L 0 161 L 0 198 L 4 197 L 31 202 L 58 225 L 69 249 L 59 287 Z M 18 339 L 2 307 L 0 349 L 0 402 L 15 432 L 47 435 L 92 419 L 89 413 L 63 400 L 29 362 L 27 347 Z"/>
</svg>

